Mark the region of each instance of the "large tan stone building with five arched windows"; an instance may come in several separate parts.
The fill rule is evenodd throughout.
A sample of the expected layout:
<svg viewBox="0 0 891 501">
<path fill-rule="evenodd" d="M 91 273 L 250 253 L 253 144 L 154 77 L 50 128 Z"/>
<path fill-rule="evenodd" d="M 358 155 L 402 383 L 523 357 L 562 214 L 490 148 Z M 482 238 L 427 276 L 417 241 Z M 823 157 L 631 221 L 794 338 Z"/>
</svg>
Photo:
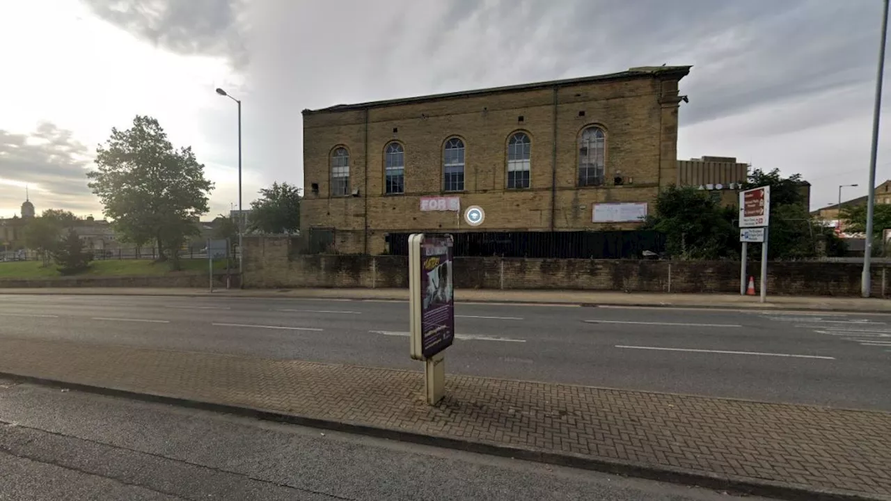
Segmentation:
<svg viewBox="0 0 891 501">
<path fill-rule="evenodd" d="M 678 182 L 690 68 L 305 110 L 301 232 L 378 254 L 390 233 L 634 229 Z"/>
</svg>

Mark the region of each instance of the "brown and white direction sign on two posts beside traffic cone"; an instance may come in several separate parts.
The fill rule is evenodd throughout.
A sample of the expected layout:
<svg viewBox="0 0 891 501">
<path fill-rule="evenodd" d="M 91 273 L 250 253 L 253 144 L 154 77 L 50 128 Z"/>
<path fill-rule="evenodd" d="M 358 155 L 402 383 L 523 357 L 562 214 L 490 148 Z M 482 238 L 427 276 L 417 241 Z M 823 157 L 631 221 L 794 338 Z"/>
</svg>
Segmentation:
<svg viewBox="0 0 891 501">
<path fill-rule="evenodd" d="M 761 242 L 761 302 L 767 300 L 767 234 L 771 216 L 771 187 L 740 192 L 740 294 L 746 293 L 748 242 Z"/>
</svg>

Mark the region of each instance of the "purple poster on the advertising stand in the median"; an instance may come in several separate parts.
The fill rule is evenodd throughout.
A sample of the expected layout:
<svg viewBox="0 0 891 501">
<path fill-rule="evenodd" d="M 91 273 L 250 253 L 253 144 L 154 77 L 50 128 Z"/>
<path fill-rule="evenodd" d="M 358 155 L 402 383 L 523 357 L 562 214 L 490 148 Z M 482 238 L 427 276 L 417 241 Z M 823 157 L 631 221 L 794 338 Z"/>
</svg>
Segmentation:
<svg viewBox="0 0 891 501">
<path fill-rule="evenodd" d="M 452 341 L 452 236 L 426 236 L 421 242 L 421 353 L 433 357 Z"/>
</svg>

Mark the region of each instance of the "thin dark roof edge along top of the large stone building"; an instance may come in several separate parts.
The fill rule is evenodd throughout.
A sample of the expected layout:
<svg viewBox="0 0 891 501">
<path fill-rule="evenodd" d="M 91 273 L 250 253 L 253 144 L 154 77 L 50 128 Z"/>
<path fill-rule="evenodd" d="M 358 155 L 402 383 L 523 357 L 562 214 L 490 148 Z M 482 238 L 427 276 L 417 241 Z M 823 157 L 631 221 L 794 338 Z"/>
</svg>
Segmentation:
<svg viewBox="0 0 891 501">
<path fill-rule="evenodd" d="M 609 73 L 606 75 L 594 75 L 593 77 L 581 77 L 581 78 L 566 78 L 562 80 L 549 80 L 546 82 L 535 82 L 532 84 L 521 84 L 518 86 L 501 86 L 501 87 L 490 87 L 484 89 L 477 90 L 468 90 L 461 92 L 452 92 L 446 94 L 429 94 L 429 95 L 420 95 L 416 97 L 405 97 L 401 99 L 389 99 L 384 101 L 372 101 L 369 103 L 356 103 L 356 104 L 336 104 L 334 106 L 329 106 L 328 108 L 322 108 L 319 110 L 304 110 L 304 115 L 310 115 L 314 113 L 327 113 L 331 111 L 355 111 L 355 110 L 366 110 L 368 108 L 375 108 L 380 106 L 394 106 L 398 104 L 408 104 L 408 103 L 427 103 L 430 101 L 437 101 L 441 99 L 454 99 L 456 97 L 470 97 L 476 95 L 486 95 L 486 94 L 498 94 L 504 92 L 523 92 L 530 90 L 538 90 L 543 88 L 551 88 L 551 87 L 560 87 L 560 86 L 576 86 L 579 84 L 588 84 L 593 82 L 607 82 L 611 80 L 627 80 L 633 78 L 653 78 L 653 77 L 676 77 L 683 78 L 688 73 L 690 73 L 690 69 L 692 66 L 639 66 L 636 68 L 630 68 L 627 71 L 619 71 L 618 73 Z"/>
</svg>

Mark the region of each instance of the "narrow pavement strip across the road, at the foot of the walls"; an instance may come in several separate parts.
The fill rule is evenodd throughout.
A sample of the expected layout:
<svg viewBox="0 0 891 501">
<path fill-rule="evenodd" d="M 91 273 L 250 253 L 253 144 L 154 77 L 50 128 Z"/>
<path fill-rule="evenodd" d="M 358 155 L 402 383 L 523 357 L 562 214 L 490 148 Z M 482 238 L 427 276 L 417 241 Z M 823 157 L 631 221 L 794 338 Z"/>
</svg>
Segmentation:
<svg viewBox="0 0 891 501">
<path fill-rule="evenodd" d="M 218 296 L 254 298 L 315 298 L 353 300 L 408 300 L 406 289 L 165 289 L 165 288 L 109 288 L 62 287 L 0 289 L 0 294 L 78 294 L 130 296 Z M 514 291 L 514 290 L 457 290 L 455 300 L 463 302 L 560 303 L 593 306 L 657 306 L 665 308 L 753 308 L 799 309 L 817 311 L 855 311 L 891 313 L 891 300 L 870 298 L 830 298 L 810 296 L 768 296 L 760 303 L 754 296 L 737 294 L 655 294 L 588 291 Z"/>
</svg>

